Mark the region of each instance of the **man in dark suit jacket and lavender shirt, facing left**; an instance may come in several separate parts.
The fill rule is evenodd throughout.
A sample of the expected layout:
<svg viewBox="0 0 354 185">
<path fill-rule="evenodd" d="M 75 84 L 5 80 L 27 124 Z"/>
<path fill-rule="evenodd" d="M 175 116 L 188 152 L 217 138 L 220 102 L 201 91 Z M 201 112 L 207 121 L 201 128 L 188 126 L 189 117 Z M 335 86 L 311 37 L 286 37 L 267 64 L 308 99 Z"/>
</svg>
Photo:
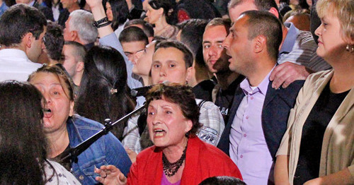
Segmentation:
<svg viewBox="0 0 354 185">
<path fill-rule="evenodd" d="M 278 18 L 266 11 L 246 11 L 223 42 L 229 68 L 246 76 L 234 102 L 218 148 L 239 167 L 246 184 L 272 184 L 273 162 L 287 117 L 303 81 L 275 90 L 269 80 L 282 42 Z"/>
</svg>

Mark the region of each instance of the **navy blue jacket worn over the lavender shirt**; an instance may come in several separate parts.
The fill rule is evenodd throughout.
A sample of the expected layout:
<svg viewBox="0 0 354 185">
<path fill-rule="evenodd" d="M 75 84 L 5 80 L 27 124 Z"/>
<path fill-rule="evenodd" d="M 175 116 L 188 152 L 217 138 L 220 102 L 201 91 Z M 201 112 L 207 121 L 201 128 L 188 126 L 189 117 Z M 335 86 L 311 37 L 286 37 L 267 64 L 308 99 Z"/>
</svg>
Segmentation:
<svg viewBox="0 0 354 185">
<path fill-rule="evenodd" d="M 265 136 L 265 142 L 268 145 L 270 155 L 275 160 L 275 154 L 278 151 L 282 136 L 287 129 L 287 119 L 289 118 L 290 109 L 295 106 L 297 93 L 304 85 L 304 80 L 297 80 L 291 83 L 287 88 L 275 90 L 272 88 L 272 82 L 269 82 L 267 94 L 262 110 L 262 127 Z M 232 122 L 236 115 L 236 111 L 244 98 L 244 92 L 240 86 L 236 89 L 234 102 L 230 109 L 230 118 L 227 126 L 222 133 L 217 148 L 229 155 L 230 131 Z"/>
</svg>

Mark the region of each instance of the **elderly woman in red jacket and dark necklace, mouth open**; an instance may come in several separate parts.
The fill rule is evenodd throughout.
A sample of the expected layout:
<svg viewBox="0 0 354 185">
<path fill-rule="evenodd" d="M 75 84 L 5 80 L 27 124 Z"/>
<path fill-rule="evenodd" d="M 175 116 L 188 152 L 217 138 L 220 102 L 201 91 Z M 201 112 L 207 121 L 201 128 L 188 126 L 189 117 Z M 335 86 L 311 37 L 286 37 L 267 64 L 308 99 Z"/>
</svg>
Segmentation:
<svg viewBox="0 0 354 185">
<path fill-rule="evenodd" d="M 221 150 L 200 141 L 199 110 L 190 87 L 156 85 L 147 95 L 147 125 L 154 146 L 137 155 L 127 179 L 116 167 L 96 169 L 103 184 L 199 184 L 214 176 L 241 179 Z"/>
</svg>

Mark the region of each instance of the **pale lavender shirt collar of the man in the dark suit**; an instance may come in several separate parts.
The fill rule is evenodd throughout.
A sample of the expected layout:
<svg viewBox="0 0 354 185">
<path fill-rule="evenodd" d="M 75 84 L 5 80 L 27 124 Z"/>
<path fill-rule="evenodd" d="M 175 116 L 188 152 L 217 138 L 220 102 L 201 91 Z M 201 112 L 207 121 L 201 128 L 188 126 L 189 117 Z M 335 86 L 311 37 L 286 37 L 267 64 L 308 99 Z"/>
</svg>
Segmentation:
<svg viewBox="0 0 354 185">
<path fill-rule="evenodd" d="M 276 65 L 275 65 L 276 66 Z M 269 76 L 270 73 L 274 70 L 275 66 L 270 70 L 267 76 L 263 78 L 262 82 L 254 89 L 252 90 L 251 85 L 249 84 L 249 79 L 245 78 L 241 83 L 240 83 L 240 88 L 242 91 L 244 91 L 245 95 L 253 95 L 256 93 L 261 93 L 262 95 L 265 95 L 268 90 L 268 84 L 269 84 Z"/>
</svg>

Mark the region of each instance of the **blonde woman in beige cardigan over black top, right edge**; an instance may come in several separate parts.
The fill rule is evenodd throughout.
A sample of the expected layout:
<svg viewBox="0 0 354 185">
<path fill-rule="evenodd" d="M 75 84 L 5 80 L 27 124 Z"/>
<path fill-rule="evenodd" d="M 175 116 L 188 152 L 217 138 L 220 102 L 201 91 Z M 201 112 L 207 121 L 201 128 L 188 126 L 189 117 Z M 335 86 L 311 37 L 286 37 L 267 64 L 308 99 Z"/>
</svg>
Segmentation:
<svg viewBox="0 0 354 185">
<path fill-rule="evenodd" d="M 319 0 L 316 10 L 316 52 L 333 69 L 299 92 L 277 153 L 278 184 L 354 184 L 354 1 Z"/>
</svg>

